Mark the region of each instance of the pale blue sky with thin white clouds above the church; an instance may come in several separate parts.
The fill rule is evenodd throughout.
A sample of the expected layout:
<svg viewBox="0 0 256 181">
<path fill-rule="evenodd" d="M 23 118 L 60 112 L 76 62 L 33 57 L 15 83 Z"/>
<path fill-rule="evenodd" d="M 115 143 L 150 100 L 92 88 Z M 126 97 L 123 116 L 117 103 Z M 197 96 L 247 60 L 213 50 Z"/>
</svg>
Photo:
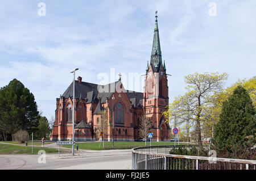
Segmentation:
<svg viewBox="0 0 256 181">
<path fill-rule="evenodd" d="M 1 0 L 0 87 L 18 79 L 51 119 L 75 68 L 91 83 L 113 69 L 114 81 L 119 72 L 146 73 L 156 10 L 170 103 L 188 74 L 228 73 L 225 87 L 255 75 L 255 0 Z"/>
</svg>

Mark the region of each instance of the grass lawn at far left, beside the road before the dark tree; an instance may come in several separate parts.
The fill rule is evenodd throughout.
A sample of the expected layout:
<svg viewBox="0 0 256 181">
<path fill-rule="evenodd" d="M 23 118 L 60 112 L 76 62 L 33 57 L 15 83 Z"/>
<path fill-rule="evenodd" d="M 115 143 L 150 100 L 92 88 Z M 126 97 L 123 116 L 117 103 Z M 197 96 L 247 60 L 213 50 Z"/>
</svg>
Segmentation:
<svg viewBox="0 0 256 181">
<path fill-rule="evenodd" d="M 46 154 L 58 153 L 58 149 L 55 149 L 55 148 L 33 146 L 33 154 L 38 154 L 39 150 L 46 151 Z M 60 149 L 60 153 L 65 153 L 65 151 L 63 149 Z M 32 147 L 0 144 L 0 154 L 32 154 Z"/>
</svg>

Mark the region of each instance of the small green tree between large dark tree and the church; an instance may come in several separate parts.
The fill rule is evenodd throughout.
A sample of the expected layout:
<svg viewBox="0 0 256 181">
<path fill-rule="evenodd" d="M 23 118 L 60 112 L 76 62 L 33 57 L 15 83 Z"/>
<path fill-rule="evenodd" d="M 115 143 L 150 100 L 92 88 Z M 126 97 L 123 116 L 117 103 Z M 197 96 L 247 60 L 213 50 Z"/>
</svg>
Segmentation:
<svg viewBox="0 0 256 181">
<path fill-rule="evenodd" d="M 51 128 L 49 127 L 49 122 L 45 116 L 40 116 L 38 130 L 36 131 L 36 136 L 38 139 L 46 138 L 51 133 Z"/>
</svg>

